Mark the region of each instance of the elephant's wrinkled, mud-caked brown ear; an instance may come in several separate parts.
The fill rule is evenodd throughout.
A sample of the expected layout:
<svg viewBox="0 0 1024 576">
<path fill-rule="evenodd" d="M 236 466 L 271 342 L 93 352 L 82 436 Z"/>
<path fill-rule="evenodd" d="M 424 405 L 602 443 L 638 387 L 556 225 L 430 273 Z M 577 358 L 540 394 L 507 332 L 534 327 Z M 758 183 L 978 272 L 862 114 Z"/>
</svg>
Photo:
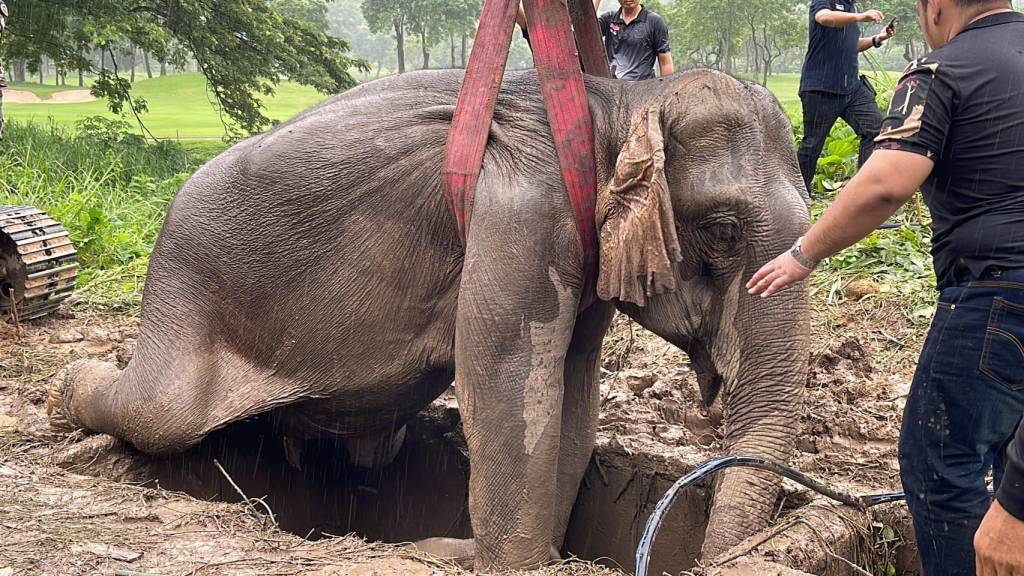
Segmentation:
<svg viewBox="0 0 1024 576">
<path fill-rule="evenodd" d="M 597 293 L 605 300 L 645 305 L 647 296 L 676 288 L 673 262 L 682 259 L 657 108 L 643 112 L 607 187 L 598 195 L 600 269 Z"/>
</svg>

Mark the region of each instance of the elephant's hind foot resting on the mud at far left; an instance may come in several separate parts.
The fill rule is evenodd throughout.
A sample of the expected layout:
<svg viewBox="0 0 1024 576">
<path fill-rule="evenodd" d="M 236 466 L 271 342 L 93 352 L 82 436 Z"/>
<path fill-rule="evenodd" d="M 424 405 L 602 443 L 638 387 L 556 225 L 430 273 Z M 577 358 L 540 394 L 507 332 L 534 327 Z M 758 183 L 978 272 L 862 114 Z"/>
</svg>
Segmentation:
<svg viewBox="0 0 1024 576">
<path fill-rule="evenodd" d="M 95 392 L 118 379 L 121 370 L 109 362 L 79 360 L 57 372 L 46 395 L 46 415 L 50 427 L 72 433 L 87 429 L 82 414 Z"/>
</svg>

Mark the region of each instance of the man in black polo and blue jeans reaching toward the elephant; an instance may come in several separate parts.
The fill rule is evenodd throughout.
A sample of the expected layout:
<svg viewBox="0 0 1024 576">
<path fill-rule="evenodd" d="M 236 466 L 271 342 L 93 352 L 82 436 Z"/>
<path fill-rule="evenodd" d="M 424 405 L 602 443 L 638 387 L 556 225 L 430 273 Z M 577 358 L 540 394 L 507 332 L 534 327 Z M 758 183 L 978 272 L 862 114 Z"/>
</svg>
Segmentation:
<svg viewBox="0 0 1024 576">
<path fill-rule="evenodd" d="M 975 574 L 992 470 L 977 563 L 1019 575 L 1024 446 L 1007 447 L 1024 414 L 1024 14 L 1008 0 L 918 0 L 918 13 L 934 51 L 907 68 L 870 160 L 748 288 L 807 278 L 921 188 L 941 291 L 900 431 L 921 562 L 926 576 Z"/>
</svg>

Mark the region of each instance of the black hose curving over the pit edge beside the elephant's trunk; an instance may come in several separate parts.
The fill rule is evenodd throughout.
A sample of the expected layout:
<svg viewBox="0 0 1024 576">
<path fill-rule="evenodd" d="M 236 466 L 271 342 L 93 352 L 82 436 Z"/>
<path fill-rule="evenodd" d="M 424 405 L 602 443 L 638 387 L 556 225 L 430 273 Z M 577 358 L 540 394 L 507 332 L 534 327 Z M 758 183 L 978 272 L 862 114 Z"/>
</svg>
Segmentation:
<svg viewBox="0 0 1024 576">
<path fill-rule="evenodd" d="M 723 456 L 721 458 L 715 458 L 700 464 L 690 474 L 676 481 L 676 483 L 672 485 L 672 488 L 665 493 L 665 496 L 662 496 L 662 499 L 658 500 L 657 505 L 654 506 L 654 511 L 651 512 L 650 518 L 647 519 L 647 525 L 643 530 L 643 536 L 640 537 L 640 545 L 637 547 L 636 576 L 647 576 L 647 564 L 650 562 L 650 550 L 654 545 L 654 538 L 657 537 L 657 531 L 662 528 L 662 523 L 665 521 L 665 515 L 668 513 L 669 507 L 676 501 L 679 491 L 692 486 L 693 484 L 717 471 L 724 470 L 725 468 L 731 468 L 733 466 L 758 468 L 781 475 L 797 484 L 800 484 L 801 486 L 805 486 L 817 492 L 818 494 L 859 509 L 866 509 L 886 502 L 896 502 L 905 498 L 902 492 L 889 492 L 885 494 L 873 494 L 870 496 L 854 496 L 809 478 L 803 472 L 790 466 L 765 458 L 757 458 L 754 456 Z"/>
</svg>

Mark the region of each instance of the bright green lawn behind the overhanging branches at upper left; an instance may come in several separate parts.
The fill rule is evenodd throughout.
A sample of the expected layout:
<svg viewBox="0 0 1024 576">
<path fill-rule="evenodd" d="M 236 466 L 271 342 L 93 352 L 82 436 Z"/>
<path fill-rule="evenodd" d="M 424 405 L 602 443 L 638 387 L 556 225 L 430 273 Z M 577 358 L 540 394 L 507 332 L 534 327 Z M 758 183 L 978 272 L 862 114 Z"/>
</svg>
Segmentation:
<svg viewBox="0 0 1024 576">
<path fill-rule="evenodd" d="M 40 84 L 16 84 L 14 89 L 36 87 L 40 97 L 48 97 L 45 90 L 53 92 L 53 86 Z M 78 89 L 68 86 L 61 89 Z M 32 89 L 32 91 L 36 91 Z M 179 74 L 138 80 L 134 94 L 145 98 L 150 112 L 143 116 L 145 125 L 158 137 L 180 139 L 219 138 L 223 135 L 220 117 L 210 104 L 206 80 L 202 75 Z M 288 120 L 306 110 L 326 96 L 305 86 L 284 82 L 278 87 L 272 98 L 265 98 L 265 114 L 278 120 Z M 4 113 L 8 118 L 20 121 L 47 122 L 52 118 L 58 124 L 73 125 L 85 116 L 102 115 L 114 117 L 103 100 L 85 104 L 5 104 Z"/>
</svg>

